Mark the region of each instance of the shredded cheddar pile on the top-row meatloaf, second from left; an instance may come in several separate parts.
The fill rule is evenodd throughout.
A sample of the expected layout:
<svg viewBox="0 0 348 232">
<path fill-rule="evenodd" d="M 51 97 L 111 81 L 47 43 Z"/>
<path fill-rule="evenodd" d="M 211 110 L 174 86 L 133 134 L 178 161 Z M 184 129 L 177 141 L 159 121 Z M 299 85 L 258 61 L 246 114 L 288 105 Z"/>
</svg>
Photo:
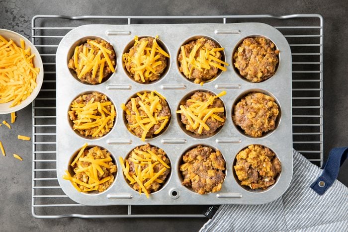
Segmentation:
<svg viewBox="0 0 348 232">
<path fill-rule="evenodd" d="M 141 80 L 142 82 L 146 82 L 150 77 L 160 75 L 155 70 L 156 67 L 162 65 L 162 61 L 158 61 L 161 57 L 160 54 L 170 58 L 169 54 L 166 53 L 157 43 L 156 38 L 153 40 L 153 45 L 150 48 L 147 47 L 149 41 L 139 41 L 138 36 L 135 36 L 135 56 L 130 56 L 128 53 L 123 54 L 124 65 L 130 65 L 131 63 L 135 64 L 135 66 L 131 68 L 131 74 L 134 74 L 134 79 L 136 81 Z"/>
</svg>

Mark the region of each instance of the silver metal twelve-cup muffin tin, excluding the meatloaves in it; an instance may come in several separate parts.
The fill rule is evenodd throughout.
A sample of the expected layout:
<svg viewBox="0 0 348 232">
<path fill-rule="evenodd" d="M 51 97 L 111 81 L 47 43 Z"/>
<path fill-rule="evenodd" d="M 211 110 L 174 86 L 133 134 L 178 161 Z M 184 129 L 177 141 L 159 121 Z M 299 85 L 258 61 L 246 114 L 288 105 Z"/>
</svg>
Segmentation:
<svg viewBox="0 0 348 232">
<path fill-rule="evenodd" d="M 134 36 L 159 36 L 171 56 L 169 70 L 160 80 L 140 84 L 128 77 L 122 65 L 122 54 Z M 225 48 L 225 61 L 230 64 L 213 81 L 203 86 L 195 84 L 178 71 L 177 56 L 180 46 L 190 38 L 205 36 L 212 38 Z M 252 83 L 242 79 L 233 68 L 232 55 L 235 48 L 246 37 L 264 36 L 279 49 L 279 64 L 273 77 Z M 73 77 L 68 68 L 70 55 L 75 46 L 88 38 L 102 38 L 108 41 L 116 53 L 116 72 L 105 82 L 96 85 L 84 84 Z M 84 205 L 183 205 L 183 204 L 264 204 L 280 197 L 290 184 L 292 177 L 292 121 L 291 121 L 291 52 L 284 36 L 275 28 L 263 23 L 233 24 L 161 24 L 161 25 L 84 25 L 70 31 L 61 41 L 56 56 L 57 70 L 57 177 L 63 191 L 72 200 Z M 145 142 L 131 134 L 124 123 L 121 104 L 135 93 L 157 90 L 167 98 L 172 118 L 169 128 L 160 136 Z M 175 113 L 180 100 L 195 90 L 208 90 L 218 94 L 225 104 L 226 121 L 222 129 L 205 139 L 187 135 L 179 125 Z M 232 122 L 232 107 L 242 95 L 260 90 L 273 96 L 281 114 L 277 128 L 261 138 L 251 138 L 241 133 Z M 113 129 L 104 137 L 86 139 L 77 135 L 70 126 L 68 111 L 71 102 L 79 95 L 98 91 L 105 94 L 115 105 L 116 120 Z M 107 149 L 117 164 L 113 184 L 97 194 L 78 192 L 70 181 L 62 176 L 78 150 L 85 144 Z M 150 143 L 163 149 L 171 161 L 171 174 L 166 184 L 147 199 L 126 182 L 118 157 L 123 158 L 137 146 Z M 220 150 L 226 161 L 226 177 L 222 189 L 216 193 L 200 195 L 181 185 L 179 163 L 183 153 L 199 144 Z M 274 185 L 266 190 L 250 190 L 239 184 L 233 171 L 235 156 L 251 144 L 270 148 L 280 159 L 281 174 Z"/>
</svg>

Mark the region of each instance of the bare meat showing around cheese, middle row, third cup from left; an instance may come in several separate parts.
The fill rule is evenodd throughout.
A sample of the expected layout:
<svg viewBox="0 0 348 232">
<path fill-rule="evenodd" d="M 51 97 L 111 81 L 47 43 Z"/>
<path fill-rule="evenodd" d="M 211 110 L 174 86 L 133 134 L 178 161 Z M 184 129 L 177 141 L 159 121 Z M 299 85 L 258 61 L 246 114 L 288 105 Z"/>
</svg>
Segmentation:
<svg viewBox="0 0 348 232">
<path fill-rule="evenodd" d="M 211 96 L 213 96 L 211 93 L 209 92 L 202 92 L 202 91 L 197 91 L 195 92 L 189 99 L 192 100 L 196 100 L 196 101 L 202 101 L 202 102 L 206 102 Z M 185 102 L 185 107 L 189 107 L 190 105 L 192 105 L 194 102 L 190 102 L 187 101 Z M 208 106 L 209 108 L 215 108 L 215 107 L 224 107 L 224 103 L 222 102 L 222 100 L 220 98 L 215 98 L 213 101 L 213 104 L 211 104 L 210 106 Z M 218 112 L 215 113 L 216 115 L 218 115 L 219 117 L 225 119 L 225 115 L 224 112 Z M 207 126 L 210 128 L 210 130 L 206 130 L 205 128 L 203 128 L 203 131 L 201 134 L 198 133 L 198 128 L 193 129 L 191 124 L 188 122 L 187 118 L 185 117 L 185 115 L 183 113 L 181 113 L 181 122 L 185 125 L 185 128 L 187 131 L 191 131 L 196 135 L 208 135 L 208 136 L 212 136 L 214 134 L 214 132 L 222 127 L 224 125 L 224 122 L 218 121 L 212 117 L 209 117 L 205 124 L 207 124 Z"/>
</svg>

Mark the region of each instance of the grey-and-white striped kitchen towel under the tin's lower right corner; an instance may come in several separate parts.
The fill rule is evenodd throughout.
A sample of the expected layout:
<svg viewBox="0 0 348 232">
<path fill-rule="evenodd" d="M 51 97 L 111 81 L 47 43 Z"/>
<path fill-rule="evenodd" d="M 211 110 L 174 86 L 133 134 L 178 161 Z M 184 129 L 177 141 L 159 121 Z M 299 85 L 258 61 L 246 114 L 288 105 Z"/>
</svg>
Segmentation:
<svg viewBox="0 0 348 232">
<path fill-rule="evenodd" d="M 264 205 L 221 205 L 201 232 L 348 231 L 348 188 L 340 181 L 320 196 L 310 185 L 322 173 L 293 150 L 293 177 L 288 190 Z"/>
</svg>

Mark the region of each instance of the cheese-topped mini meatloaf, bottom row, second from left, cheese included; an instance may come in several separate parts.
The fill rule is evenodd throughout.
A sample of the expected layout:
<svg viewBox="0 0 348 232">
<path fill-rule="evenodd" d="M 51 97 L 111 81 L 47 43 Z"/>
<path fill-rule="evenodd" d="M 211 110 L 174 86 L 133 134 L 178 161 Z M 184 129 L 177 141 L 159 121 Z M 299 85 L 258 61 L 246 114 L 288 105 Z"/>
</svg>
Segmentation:
<svg viewBox="0 0 348 232">
<path fill-rule="evenodd" d="M 147 194 L 158 191 L 171 172 L 170 160 L 166 153 L 150 144 L 135 148 L 127 156 L 126 162 L 129 164 L 129 172 L 127 174 L 132 178 L 137 177 L 141 185 L 146 188 Z M 151 166 L 149 166 L 149 162 L 151 162 Z M 153 178 L 159 172 L 161 174 L 157 178 Z M 138 181 L 130 181 L 128 179 L 128 183 L 130 183 L 133 189 L 145 192 Z"/>
</svg>

